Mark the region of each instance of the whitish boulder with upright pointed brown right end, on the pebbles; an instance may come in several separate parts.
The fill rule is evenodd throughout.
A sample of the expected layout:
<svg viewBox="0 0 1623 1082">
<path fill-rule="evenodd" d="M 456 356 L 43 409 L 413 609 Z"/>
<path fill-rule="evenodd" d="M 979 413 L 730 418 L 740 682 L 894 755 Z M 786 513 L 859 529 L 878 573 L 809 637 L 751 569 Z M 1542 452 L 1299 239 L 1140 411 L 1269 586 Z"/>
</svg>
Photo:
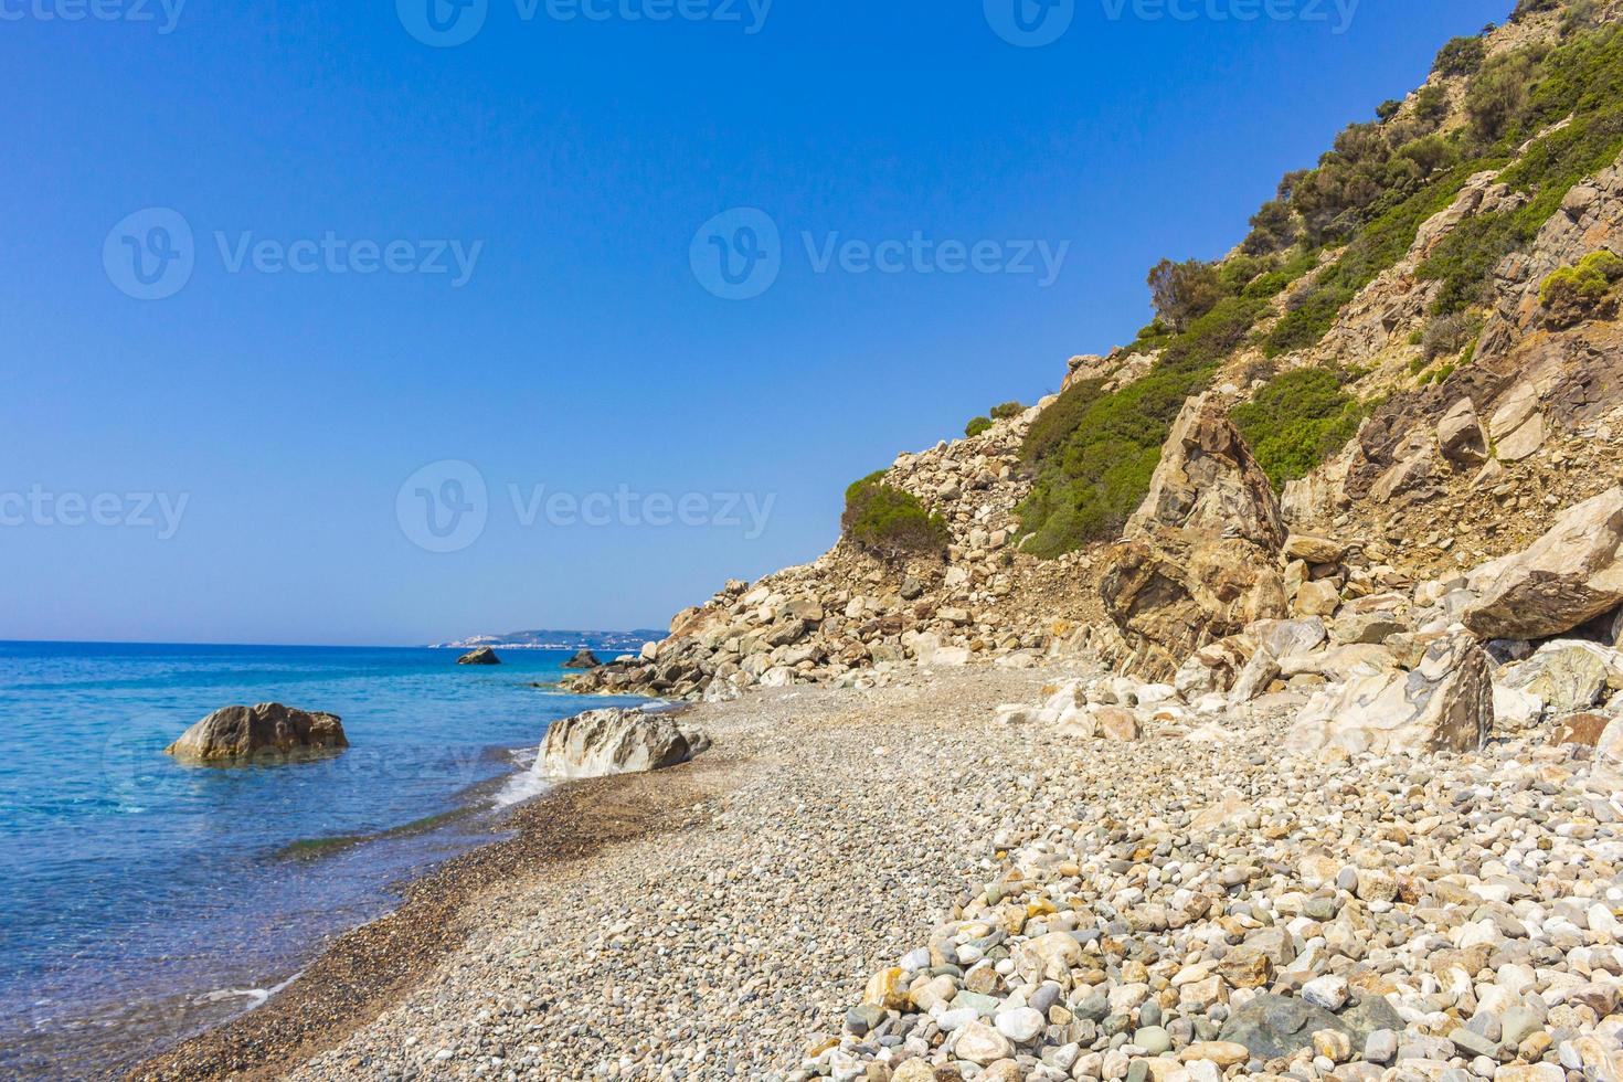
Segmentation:
<svg viewBox="0 0 1623 1082">
<path fill-rule="evenodd" d="M 1469 636 L 1433 642 L 1414 672 L 1355 676 L 1321 693 L 1285 740 L 1289 751 L 1376 754 L 1477 751 L 1493 730 L 1488 655 Z"/>
</svg>

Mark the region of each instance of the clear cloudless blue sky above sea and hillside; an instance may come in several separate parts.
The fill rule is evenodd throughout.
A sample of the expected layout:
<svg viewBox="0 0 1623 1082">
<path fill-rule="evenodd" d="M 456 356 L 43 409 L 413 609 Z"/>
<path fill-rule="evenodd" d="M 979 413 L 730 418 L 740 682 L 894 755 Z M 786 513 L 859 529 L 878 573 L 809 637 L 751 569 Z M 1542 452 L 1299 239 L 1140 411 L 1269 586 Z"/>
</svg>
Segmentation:
<svg viewBox="0 0 1623 1082">
<path fill-rule="evenodd" d="M 661 626 L 1513 6 L 1014 2 L 0 0 L 0 638 Z"/>
</svg>

